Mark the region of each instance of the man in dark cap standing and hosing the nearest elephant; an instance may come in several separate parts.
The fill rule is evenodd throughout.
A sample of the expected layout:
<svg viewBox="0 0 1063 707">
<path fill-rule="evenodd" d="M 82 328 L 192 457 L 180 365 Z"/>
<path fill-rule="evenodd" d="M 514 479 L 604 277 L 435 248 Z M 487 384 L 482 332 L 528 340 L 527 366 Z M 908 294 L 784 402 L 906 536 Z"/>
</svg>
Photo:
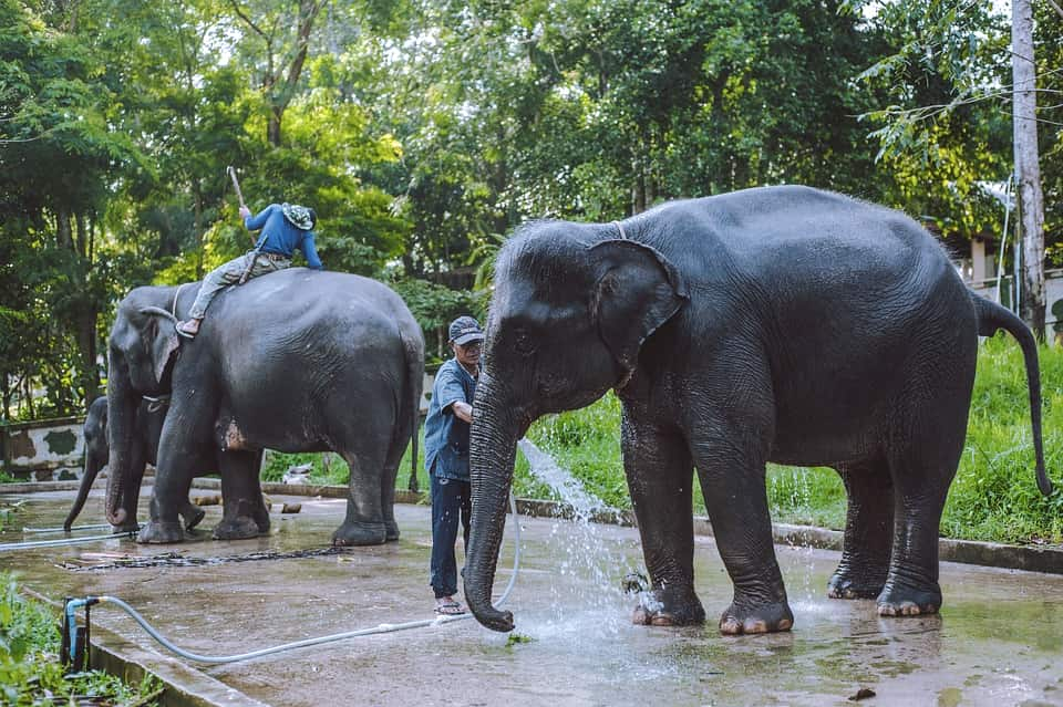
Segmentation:
<svg viewBox="0 0 1063 707">
<path fill-rule="evenodd" d="M 483 341 L 484 332 L 472 316 L 458 316 L 451 323 L 450 345 L 454 357 L 435 374 L 429 416 L 424 420 L 424 464 L 432 482 L 431 584 L 437 614 L 465 613 L 454 600 L 457 593 L 454 542 L 461 519 L 468 549 L 472 510 L 468 430 Z"/>
</svg>

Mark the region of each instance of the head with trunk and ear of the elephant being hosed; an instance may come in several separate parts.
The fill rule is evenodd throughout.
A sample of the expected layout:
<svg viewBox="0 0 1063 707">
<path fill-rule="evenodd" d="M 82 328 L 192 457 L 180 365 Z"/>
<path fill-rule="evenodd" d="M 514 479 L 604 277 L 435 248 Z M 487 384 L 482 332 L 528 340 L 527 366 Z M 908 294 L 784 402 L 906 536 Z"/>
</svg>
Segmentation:
<svg viewBox="0 0 1063 707">
<path fill-rule="evenodd" d="M 538 222 L 498 254 L 471 439 L 472 534 L 465 599 L 489 628 L 516 443 L 541 415 L 627 385 L 642 343 L 687 300 L 674 267 L 618 225 Z"/>
</svg>

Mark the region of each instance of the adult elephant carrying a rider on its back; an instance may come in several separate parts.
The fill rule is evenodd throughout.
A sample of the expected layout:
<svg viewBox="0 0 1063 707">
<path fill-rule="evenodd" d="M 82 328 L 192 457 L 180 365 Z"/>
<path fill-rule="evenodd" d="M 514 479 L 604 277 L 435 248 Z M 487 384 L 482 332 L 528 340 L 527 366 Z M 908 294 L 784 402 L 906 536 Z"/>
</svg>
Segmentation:
<svg viewBox="0 0 1063 707">
<path fill-rule="evenodd" d="M 130 512 L 122 501 L 138 401 L 169 394 L 140 542 L 183 539 L 177 516 L 204 444 L 221 475 L 215 538 L 269 529 L 258 478 L 268 447 L 332 450 L 347 461 L 347 517 L 334 544 L 398 539 L 394 482 L 424 368 L 424 339 L 403 301 L 368 278 L 291 268 L 220 294 L 199 334 L 178 342 L 174 323 L 198 287 L 136 288 L 118 305 L 109 347 L 107 520 L 121 526 Z"/>
</svg>

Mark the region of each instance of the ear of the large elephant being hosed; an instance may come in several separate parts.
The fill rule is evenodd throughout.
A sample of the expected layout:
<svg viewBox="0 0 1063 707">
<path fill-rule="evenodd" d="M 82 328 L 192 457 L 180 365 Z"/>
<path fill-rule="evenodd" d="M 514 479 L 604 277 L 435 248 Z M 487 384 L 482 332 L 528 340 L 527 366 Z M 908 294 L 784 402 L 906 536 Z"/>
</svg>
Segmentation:
<svg viewBox="0 0 1063 707">
<path fill-rule="evenodd" d="M 675 267 L 658 250 L 631 240 L 595 245 L 596 269 L 591 316 L 598 335 L 625 371 L 620 386 L 634 373 L 642 342 L 689 299 Z"/>
</svg>

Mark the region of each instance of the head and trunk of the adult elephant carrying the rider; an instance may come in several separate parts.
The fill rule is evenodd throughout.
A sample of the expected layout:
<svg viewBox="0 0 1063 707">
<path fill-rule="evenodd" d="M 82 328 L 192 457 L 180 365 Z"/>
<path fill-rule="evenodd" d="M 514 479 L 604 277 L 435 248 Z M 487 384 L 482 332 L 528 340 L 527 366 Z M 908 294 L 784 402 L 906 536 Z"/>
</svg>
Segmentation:
<svg viewBox="0 0 1063 707">
<path fill-rule="evenodd" d="M 118 304 L 107 347 L 106 513 L 112 526 L 133 519 L 122 508 L 130 481 L 135 444 L 136 409 L 145 395 L 169 393 L 169 363 L 177 351 L 176 318 L 158 304 L 168 303 L 173 288 L 137 288 Z M 135 502 L 135 501 L 134 501 Z"/>
</svg>

